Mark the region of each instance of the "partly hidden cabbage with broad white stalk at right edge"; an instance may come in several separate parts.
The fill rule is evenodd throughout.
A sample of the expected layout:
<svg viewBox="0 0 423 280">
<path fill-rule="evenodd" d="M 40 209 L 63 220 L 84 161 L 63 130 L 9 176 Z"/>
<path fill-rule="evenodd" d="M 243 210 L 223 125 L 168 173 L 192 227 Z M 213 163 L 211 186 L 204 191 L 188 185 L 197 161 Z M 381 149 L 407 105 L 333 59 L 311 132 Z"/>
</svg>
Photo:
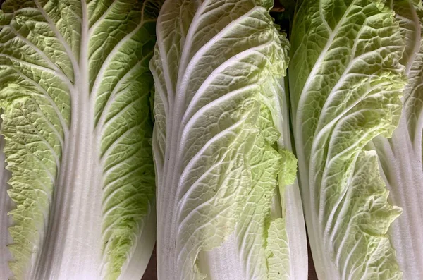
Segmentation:
<svg viewBox="0 0 423 280">
<path fill-rule="evenodd" d="M 401 62 L 409 83 L 403 97 L 403 114 L 392 138 L 373 141 L 391 200 L 403 214 L 390 231 L 404 279 L 423 279 L 423 47 L 422 1 L 393 1 L 398 13 L 405 53 Z"/>
</svg>

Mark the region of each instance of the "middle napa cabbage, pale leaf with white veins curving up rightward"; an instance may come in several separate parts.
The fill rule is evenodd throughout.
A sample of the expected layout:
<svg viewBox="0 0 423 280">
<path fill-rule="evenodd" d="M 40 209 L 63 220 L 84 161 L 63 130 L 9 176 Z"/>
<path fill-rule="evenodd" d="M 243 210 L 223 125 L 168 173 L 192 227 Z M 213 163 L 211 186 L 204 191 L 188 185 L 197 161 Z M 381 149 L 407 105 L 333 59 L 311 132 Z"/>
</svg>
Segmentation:
<svg viewBox="0 0 423 280">
<path fill-rule="evenodd" d="M 165 1 L 150 68 L 159 279 L 307 279 L 271 1 Z"/>
</svg>

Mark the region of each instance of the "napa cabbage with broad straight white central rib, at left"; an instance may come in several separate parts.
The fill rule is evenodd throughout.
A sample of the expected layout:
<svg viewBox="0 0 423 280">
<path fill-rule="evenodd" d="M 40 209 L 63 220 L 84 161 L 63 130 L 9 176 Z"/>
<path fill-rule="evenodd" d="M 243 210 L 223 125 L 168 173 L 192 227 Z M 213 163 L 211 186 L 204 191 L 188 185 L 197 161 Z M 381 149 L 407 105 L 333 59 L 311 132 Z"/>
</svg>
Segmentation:
<svg viewBox="0 0 423 280">
<path fill-rule="evenodd" d="M 140 279 L 155 234 L 148 63 L 159 2 L 8 0 L 2 10 L 14 278 Z"/>
</svg>

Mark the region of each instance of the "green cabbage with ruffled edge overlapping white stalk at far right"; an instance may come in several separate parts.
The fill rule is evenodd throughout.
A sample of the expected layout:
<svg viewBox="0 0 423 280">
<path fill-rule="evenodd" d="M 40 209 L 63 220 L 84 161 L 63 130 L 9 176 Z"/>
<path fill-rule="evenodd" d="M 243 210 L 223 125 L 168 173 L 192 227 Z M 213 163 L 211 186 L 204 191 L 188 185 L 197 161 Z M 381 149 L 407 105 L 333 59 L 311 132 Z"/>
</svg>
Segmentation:
<svg viewBox="0 0 423 280">
<path fill-rule="evenodd" d="M 400 118 L 398 23 L 384 1 L 299 1 L 292 34 L 295 150 L 317 275 L 400 279 L 386 233 L 401 210 L 364 150 Z"/>
</svg>

